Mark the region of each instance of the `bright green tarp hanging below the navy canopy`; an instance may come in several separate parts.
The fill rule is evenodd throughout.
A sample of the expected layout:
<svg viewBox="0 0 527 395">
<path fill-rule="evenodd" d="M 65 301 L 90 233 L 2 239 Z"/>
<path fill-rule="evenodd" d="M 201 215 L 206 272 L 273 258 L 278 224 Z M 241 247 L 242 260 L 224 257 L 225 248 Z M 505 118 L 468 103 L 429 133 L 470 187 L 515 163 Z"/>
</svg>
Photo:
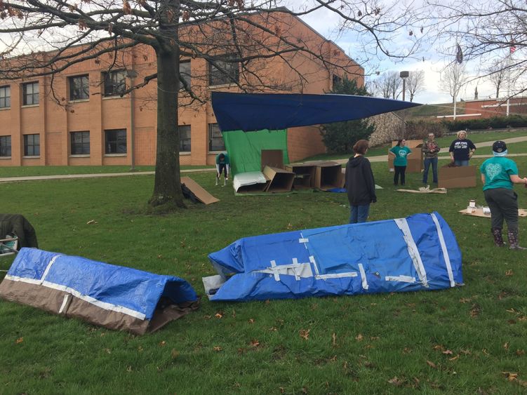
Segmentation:
<svg viewBox="0 0 527 395">
<path fill-rule="evenodd" d="M 289 163 L 286 129 L 264 129 L 249 133 L 243 130 L 230 130 L 223 132 L 222 135 L 229 154 L 232 175 L 261 171 L 262 149 L 281 149 L 283 164 Z"/>
</svg>

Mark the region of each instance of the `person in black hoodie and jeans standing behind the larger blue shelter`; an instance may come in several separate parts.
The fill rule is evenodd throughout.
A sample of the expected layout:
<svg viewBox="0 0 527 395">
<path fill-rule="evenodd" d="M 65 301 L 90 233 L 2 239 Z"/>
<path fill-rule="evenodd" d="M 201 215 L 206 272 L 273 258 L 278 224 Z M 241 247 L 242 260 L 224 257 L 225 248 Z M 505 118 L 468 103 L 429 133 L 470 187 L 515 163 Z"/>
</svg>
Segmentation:
<svg viewBox="0 0 527 395">
<path fill-rule="evenodd" d="M 364 157 L 368 151 L 368 140 L 359 140 L 353 146 L 355 156 L 346 165 L 346 190 L 351 215 L 349 223 L 366 222 L 370 213 L 370 203 L 377 201 L 375 179 L 370 161 Z"/>
</svg>

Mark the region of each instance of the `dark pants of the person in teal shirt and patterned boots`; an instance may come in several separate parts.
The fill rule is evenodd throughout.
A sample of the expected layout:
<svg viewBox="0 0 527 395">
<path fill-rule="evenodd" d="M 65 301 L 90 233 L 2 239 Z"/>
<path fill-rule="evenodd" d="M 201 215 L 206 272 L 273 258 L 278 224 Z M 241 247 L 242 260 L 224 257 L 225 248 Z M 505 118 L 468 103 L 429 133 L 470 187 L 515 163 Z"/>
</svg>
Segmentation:
<svg viewBox="0 0 527 395">
<path fill-rule="evenodd" d="M 491 209 L 491 227 L 502 229 L 503 220 L 509 231 L 518 231 L 518 195 L 512 189 L 494 188 L 483 191 Z"/>
</svg>

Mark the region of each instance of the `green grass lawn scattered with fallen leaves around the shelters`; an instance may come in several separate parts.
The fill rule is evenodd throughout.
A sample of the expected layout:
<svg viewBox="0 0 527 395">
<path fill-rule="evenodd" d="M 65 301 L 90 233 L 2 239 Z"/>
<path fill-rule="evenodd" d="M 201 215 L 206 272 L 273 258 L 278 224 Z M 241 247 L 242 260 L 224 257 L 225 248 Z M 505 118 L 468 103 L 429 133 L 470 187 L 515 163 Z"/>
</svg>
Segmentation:
<svg viewBox="0 0 527 395">
<path fill-rule="evenodd" d="M 516 163 L 526 175 L 527 158 Z M 446 195 L 404 194 L 386 163 L 372 165 L 385 189 L 370 220 L 437 210 L 460 244 L 465 286 L 245 303 L 205 297 L 196 312 L 144 336 L 0 301 L 0 393 L 525 393 L 527 255 L 495 248 L 487 218 L 458 213 L 469 199 L 483 204 L 481 182 Z M 154 177 L 145 175 L 4 183 L 2 211 L 25 215 L 44 250 L 181 276 L 201 295 L 201 277 L 214 274 L 208 253 L 349 215 L 346 194 L 234 196 L 211 173 L 191 176 L 220 202 L 147 215 Z M 407 187 L 420 187 L 420 177 L 408 174 Z M 516 192 L 527 208 L 527 189 Z M 519 221 L 527 245 L 527 218 Z"/>
</svg>

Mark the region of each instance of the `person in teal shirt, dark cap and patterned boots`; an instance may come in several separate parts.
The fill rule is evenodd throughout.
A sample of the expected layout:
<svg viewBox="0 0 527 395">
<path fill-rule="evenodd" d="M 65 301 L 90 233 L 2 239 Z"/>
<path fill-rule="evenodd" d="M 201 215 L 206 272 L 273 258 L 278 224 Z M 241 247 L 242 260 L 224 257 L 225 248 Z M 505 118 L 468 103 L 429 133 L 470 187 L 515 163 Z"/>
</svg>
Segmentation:
<svg viewBox="0 0 527 395">
<path fill-rule="evenodd" d="M 507 155 L 507 145 L 498 140 L 492 146 L 493 158 L 487 159 L 479 168 L 483 195 L 491 209 L 491 232 L 495 246 L 505 246 L 502 237 L 503 220 L 507 222 L 507 236 L 511 250 L 525 250 L 518 245 L 518 195 L 513 184 L 527 187 L 527 178 L 518 177 L 518 166 Z"/>
</svg>

